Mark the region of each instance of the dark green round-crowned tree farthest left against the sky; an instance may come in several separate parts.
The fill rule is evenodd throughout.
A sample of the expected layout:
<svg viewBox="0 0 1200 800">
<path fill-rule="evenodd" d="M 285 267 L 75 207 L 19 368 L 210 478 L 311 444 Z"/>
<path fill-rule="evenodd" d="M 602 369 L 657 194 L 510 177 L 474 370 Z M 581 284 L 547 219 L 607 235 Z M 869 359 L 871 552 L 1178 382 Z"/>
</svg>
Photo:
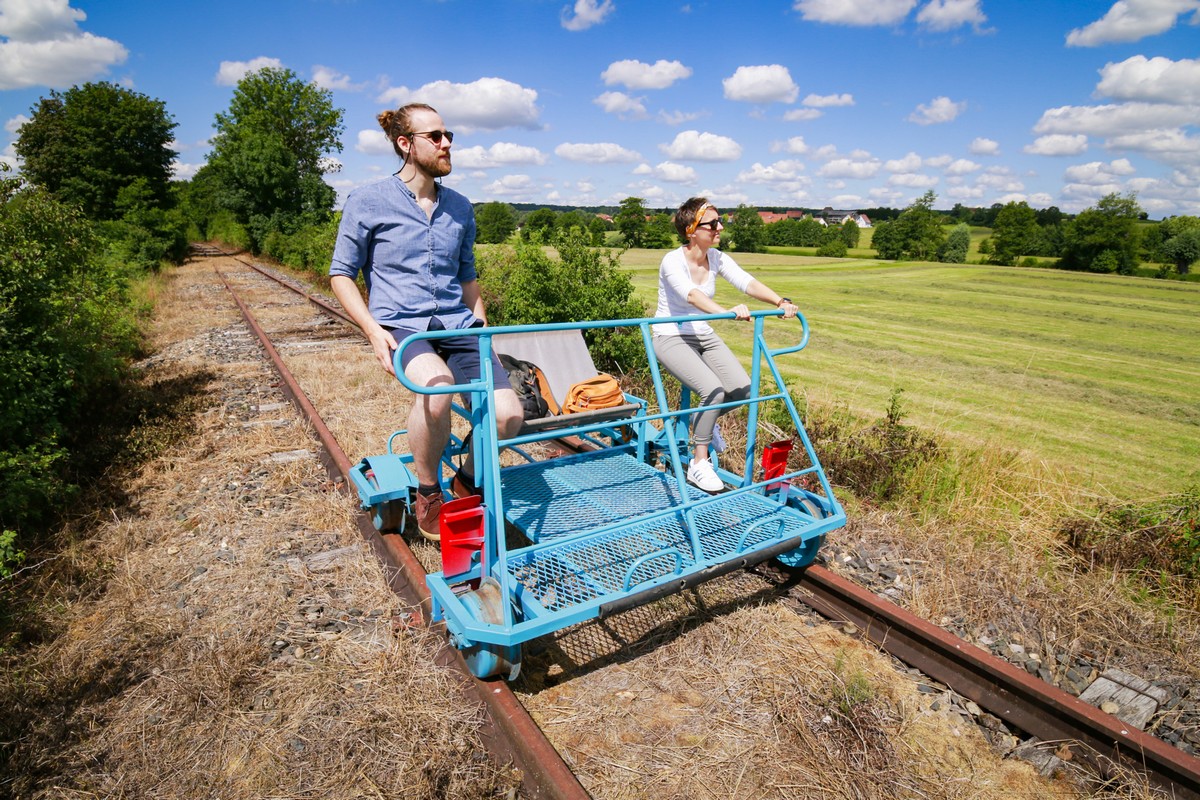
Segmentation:
<svg viewBox="0 0 1200 800">
<path fill-rule="evenodd" d="M 175 122 L 162 101 L 110 83 L 52 91 L 20 127 L 22 172 L 92 219 L 121 216 L 116 197 L 140 179 L 151 205 L 170 201 Z"/>
</svg>

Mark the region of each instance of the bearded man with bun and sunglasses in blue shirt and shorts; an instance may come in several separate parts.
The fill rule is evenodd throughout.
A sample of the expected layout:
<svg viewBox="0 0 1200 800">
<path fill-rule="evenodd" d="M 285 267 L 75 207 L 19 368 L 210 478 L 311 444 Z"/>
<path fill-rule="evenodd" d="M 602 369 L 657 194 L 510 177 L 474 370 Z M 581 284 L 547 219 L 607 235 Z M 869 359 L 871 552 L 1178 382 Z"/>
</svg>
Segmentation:
<svg viewBox="0 0 1200 800">
<path fill-rule="evenodd" d="M 475 275 L 475 213 L 470 201 L 436 179 L 450 174 L 450 144 L 442 115 L 424 103 L 379 114 L 400 156 L 400 172 L 355 190 L 346 199 L 329 267 L 330 287 L 358 323 L 376 359 L 394 373 L 392 353 L 406 337 L 433 330 L 486 325 Z M 367 301 L 355 279 L 362 273 Z M 479 337 L 421 339 L 403 353 L 404 374 L 420 386 L 463 384 L 480 375 Z M 492 354 L 496 423 L 515 435 L 521 402 Z M 421 534 L 439 537 L 440 456 L 450 440 L 450 395 L 418 395 L 408 416 L 408 445 L 420 485 L 415 516 Z M 450 481 L 456 497 L 479 493 L 467 463 Z"/>
</svg>

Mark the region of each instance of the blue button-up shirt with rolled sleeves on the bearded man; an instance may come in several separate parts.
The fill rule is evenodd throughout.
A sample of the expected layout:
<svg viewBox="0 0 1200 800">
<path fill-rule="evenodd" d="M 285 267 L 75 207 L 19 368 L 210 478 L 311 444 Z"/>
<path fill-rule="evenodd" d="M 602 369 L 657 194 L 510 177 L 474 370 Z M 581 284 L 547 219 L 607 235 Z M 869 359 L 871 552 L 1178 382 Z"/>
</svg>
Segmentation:
<svg viewBox="0 0 1200 800">
<path fill-rule="evenodd" d="M 475 279 L 475 212 L 470 201 L 438 186 L 433 216 L 398 176 L 362 186 L 346 198 L 330 276 L 367 285 L 367 306 L 385 327 L 428 330 L 434 318 L 446 330 L 475 321 L 462 284 Z"/>
</svg>

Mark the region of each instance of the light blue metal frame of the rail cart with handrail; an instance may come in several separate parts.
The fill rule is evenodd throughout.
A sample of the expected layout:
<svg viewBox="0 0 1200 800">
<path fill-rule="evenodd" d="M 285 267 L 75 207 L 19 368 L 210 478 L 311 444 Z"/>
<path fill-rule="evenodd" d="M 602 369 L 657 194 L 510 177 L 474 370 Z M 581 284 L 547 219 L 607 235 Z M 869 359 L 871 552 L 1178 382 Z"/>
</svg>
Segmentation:
<svg viewBox="0 0 1200 800">
<path fill-rule="evenodd" d="M 475 481 L 484 487 L 484 546 L 480 559 L 468 572 L 457 576 L 436 572 L 427 577 L 433 619 L 445 620 L 456 646 L 473 651 L 482 646 L 510 655 L 514 648 L 520 652 L 520 644 L 529 639 L 672 594 L 743 565 L 773 557 L 793 566 L 811 563 L 824 534 L 842 527 L 846 515 L 833 495 L 775 363 L 776 357 L 808 344 L 808 321 L 798 314 L 800 341 L 772 349 L 766 341 L 764 323 L 768 317 L 781 315 L 780 311 L 751 314 L 750 397 L 721 404 L 749 405 L 746 458 L 740 475 L 716 465 L 714 458 L 718 474 L 733 488 L 713 495 L 686 482 L 690 458 L 686 425 L 695 409 L 690 408 L 686 389 L 678 407 L 671 408 L 654 357 L 650 326 L 732 319 L 732 313 L 427 331 L 401 343 L 395 354 L 396 375 L 407 389 L 419 395 L 468 393 L 473 398 L 470 410 L 458 405 L 454 409 L 470 420 L 474 432 Z M 646 401 L 626 393 L 632 405 L 628 416 L 604 421 L 581 419 L 576 425 L 499 439 L 492 410 L 493 336 L 626 326 L 641 331 L 658 413 L 650 414 Z M 413 342 L 462 335 L 479 337 L 482 373 L 479 380 L 418 386 L 404 375 L 401 353 Z M 775 392 L 760 392 L 762 365 L 774 380 Z M 770 401 L 782 401 L 786 405 L 809 467 L 756 481 L 758 407 Z M 620 431 L 634 434 L 626 441 Z M 389 439 L 386 455 L 364 458 L 352 471 L 364 507 L 374 511 L 377 527 L 382 519 L 395 522 L 397 504 L 403 503 L 407 510 L 416 487 L 409 468 L 412 455 L 392 452 L 391 443 L 400 433 L 403 432 Z M 565 435 L 586 437 L 602 446 L 594 452 L 541 462 L 520 450 L 526 444 Z M 452 457 L 464 447 L 462 440 L 452 438 L 443 462 L 452 464 Z M 499 453 L 505 449 L 521 452 L 528 463 L 502 470 Z M 820 485 L 820 493 L 790 482 L 806 476 Z M 510 552 L 504 536 L 505 521 L 521 528 L 532 543 Z M 500 594 L 508 599 L 500 602 L 500 609 L 491 609 L 488 614 L 499 622 L 481 619 L 473 595 L 467 602 L 463 600 L 467 584 L 479 585 L 486 577 L 498 582 Z M 515 674 L 516 669 L 509 676 Z"/>
</svg>

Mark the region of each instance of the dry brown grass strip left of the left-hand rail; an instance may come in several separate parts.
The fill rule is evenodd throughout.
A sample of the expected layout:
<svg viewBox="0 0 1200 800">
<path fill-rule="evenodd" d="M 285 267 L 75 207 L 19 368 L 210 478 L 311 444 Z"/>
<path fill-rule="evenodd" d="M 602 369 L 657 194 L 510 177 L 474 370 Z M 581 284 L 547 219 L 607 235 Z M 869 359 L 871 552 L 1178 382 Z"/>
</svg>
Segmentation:
<svg viewBox="0 0 1200 800">
<path fill-rule="evenodd" d="M 214 366 L 198 341 L 232 318 L 211 273 L 160 296 L 149 379 Z M 220 294 L 220 293 L 217 293 Z M 197 318 L 214 324 L 209 331 Z M 19 798 L 506 796 L 478 710 L 433 664 L 432 634 L 396 634 L 378 563 L 330 491 L 290 408 L 254 415 L 257 361 L 218 368 L 197 435 L 128 481 L 126 510 L 41 575 L 54 628 L 8 658 L 11 742 L 0 794 Z M 257 399 L 256 399 L 257 398 Z M 74 570 L 67 564 L 77 565 Z M 76 576 L 72 585 L 60 582 Z M 88 576 L 80 584 L 78 576 Z M 19 657 L 18 657 L 19 656 Z"/>
</svg>

